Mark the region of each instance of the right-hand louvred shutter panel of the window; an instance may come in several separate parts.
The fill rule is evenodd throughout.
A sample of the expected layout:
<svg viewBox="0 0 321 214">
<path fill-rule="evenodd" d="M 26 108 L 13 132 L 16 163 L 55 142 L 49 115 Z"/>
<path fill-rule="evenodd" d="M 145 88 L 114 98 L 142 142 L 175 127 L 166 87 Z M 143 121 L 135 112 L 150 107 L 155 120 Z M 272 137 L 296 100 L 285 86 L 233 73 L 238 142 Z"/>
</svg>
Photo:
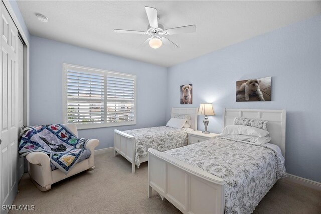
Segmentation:
<svg viewBox="0 0 321 214">
<path fill-rule="evenodd" d="M 107 76 L 107 122 L 135 121 L 135 77 L 109 73 Z"/>
</svg>

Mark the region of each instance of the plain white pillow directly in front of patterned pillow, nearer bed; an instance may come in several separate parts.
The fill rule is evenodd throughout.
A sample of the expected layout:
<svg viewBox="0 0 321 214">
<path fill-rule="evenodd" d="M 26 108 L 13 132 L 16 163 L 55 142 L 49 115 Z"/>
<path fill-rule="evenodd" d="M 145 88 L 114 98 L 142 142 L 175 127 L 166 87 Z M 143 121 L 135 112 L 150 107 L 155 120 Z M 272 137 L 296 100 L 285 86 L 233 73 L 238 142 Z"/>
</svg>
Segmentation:
<svg viewBox="0 0 321 214">
<path fill-rule="evenodd" d="M 222 133 L 224 135 L 243 134 L 243 135 L 250 135 L 250 136 L 256 136 L 256 137 L 265 137 L 270 132 L 263 129 L 251 127 L 251 126 L 228 125 L 223 129 Z"/>
</svg>

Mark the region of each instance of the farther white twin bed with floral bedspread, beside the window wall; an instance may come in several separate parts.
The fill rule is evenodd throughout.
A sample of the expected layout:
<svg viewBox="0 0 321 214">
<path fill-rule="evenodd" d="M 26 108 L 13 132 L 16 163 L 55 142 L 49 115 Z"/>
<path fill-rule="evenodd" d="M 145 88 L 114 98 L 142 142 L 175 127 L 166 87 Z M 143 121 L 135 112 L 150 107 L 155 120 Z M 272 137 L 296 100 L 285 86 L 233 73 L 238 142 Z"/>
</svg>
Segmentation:
<svg viewBox="0 0 321 214">
<path fill-rule="evenodd" d="M 171 118 L 187 115 L 191 126 L 186 129 L 175 129 L 166 126 L 133 129 L 128 131 L 114 130 L 115 156 L 118 154 L 131 162 L 131 171 L 135 165 L 148 161 L 148 148 L 166 151 L 188 144 L 188 132 L 197 130 L 197 108 L 172 108 Z"/>
</svg>

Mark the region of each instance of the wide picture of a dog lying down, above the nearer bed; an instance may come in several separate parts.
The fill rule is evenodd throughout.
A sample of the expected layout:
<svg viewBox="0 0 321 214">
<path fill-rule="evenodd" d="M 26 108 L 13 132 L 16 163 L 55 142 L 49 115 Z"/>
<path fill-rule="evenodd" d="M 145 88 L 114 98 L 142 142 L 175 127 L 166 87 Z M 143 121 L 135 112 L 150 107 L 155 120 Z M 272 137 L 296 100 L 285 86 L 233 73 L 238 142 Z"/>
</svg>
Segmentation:
<svg viewBox="0 0 321 214">
<path fill-rule="evenodd" d="M 271 101 L 271 77 L 236 82 L 236 102 Z"/>
</svg>

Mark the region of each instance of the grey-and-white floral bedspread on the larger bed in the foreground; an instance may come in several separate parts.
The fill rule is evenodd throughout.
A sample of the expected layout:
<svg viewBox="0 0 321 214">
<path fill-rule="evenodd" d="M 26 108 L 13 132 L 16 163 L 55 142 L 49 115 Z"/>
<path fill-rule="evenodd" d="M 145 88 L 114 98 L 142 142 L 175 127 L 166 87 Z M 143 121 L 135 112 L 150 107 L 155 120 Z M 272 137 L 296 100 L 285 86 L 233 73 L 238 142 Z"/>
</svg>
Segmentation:
<svg viewBox="0 0 321 214">
<path fill-rule="evenodd" d="M 215 138 L 165 153 L 225 180 L 225 213 L 252 213 L 285 166 L 271 148 Z"/>
</svg>

